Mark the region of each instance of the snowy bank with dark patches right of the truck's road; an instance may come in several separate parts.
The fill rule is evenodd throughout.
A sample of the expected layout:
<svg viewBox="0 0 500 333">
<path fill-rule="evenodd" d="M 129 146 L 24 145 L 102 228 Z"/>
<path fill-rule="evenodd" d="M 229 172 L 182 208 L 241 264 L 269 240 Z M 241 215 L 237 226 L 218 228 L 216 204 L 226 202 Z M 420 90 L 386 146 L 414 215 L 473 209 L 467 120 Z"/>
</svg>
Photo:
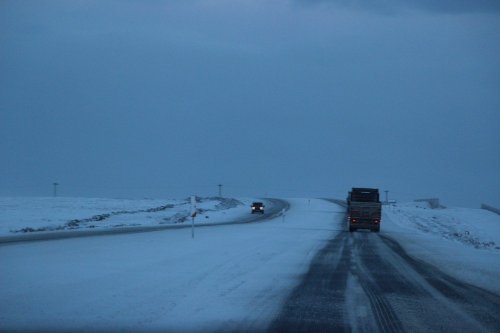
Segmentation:
<svg viewBox="0 0 500 333">
<path fill-rule="evenodd" d="M 386 206 L 382 233 L 413 257 L 460 280 L 500 293 L 500 216 L 481 209 Z"/>
</svg>

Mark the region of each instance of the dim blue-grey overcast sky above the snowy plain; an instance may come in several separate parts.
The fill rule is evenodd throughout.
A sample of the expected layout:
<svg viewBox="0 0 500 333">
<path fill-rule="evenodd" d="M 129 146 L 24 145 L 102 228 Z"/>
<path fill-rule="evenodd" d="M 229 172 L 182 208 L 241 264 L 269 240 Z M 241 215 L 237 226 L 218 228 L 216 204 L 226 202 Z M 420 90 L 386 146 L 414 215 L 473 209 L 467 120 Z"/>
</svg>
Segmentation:
<svg viewBox="0 0 500 333">
<path fill-rule="evenodd" d="M 0 195 L 500 206 L 500 1 L 0 1 Z"/>
</svg>

